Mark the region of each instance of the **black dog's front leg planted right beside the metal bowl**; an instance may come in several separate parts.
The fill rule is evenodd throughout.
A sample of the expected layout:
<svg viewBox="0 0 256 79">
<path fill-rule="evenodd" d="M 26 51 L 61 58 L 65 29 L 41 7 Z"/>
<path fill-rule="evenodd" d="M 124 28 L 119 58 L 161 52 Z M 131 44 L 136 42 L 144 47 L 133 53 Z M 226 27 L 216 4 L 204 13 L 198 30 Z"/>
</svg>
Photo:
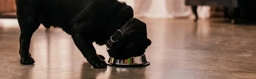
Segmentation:
<svg viewBox="0 0 256 79">
<path fill-rule="evenodd" d="M 81 51 L 93 68 L 107 68 L 106 62 L 96 54 L 96 50 L 90 40 L 83 39 L 79 33 L 73 34 L 72 38 L 77 48 Z"/>
</svg>

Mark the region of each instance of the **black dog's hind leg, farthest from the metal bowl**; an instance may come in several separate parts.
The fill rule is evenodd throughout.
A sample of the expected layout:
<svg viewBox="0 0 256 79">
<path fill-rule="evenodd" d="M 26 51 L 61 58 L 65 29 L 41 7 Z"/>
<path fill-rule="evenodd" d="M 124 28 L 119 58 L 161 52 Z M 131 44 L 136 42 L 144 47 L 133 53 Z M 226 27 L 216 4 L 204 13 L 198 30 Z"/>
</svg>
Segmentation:
<svg viewBox="0 0 256 79">
<path fill-rule="evenodd" d="M 30 40 L 40 23 L 38 22 L 37 8 L 35 8 L 36 4 L 32 3 L 32 0 L 25 1 L 16 0 L 16 6 L 17 20 L 20 25 L 20 63 L 29 65 L 35 63 L 29 53 Z"/>
</svg>

